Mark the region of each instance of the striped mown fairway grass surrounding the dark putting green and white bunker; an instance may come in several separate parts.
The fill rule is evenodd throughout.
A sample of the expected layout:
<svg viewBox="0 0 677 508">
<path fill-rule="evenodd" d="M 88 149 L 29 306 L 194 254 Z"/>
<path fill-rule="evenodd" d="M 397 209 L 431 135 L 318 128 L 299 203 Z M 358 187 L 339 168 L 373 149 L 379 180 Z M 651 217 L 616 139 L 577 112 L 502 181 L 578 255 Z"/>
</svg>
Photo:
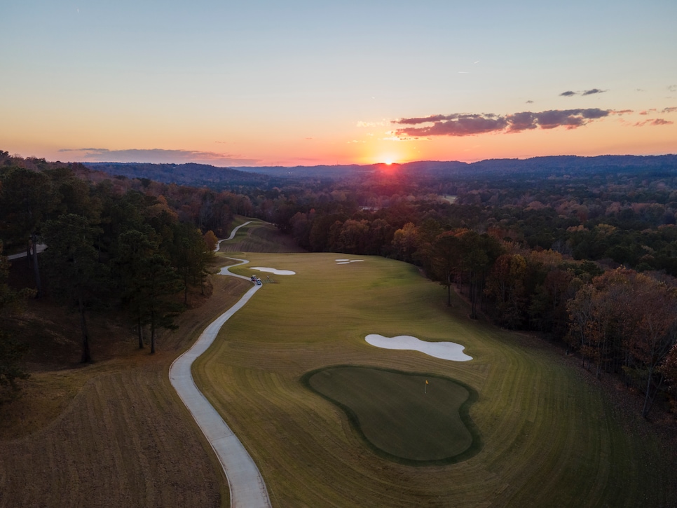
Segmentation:
<svg viewBox="0 0 677 508">
<path fill-rule="evenodd" d="M 467 318 L 444 289 L 397 261 L 247 254 L 275 275 L 193 367 L 198 385 L 257 462 L 276 506 L 671 506 L 673 448 L 624 416 L 561 352 Z M 238 273 L 251 275 L 247 266 Z M 272 277 L 271 277 L 272 278 Z M 383 350 L 367 334 L 466 346 L 471 362 Z M 304 374 L 361 365 L 458 379 L 484 447 L 457 464 L 411 467 L 364 446 Z"/>
</svg>

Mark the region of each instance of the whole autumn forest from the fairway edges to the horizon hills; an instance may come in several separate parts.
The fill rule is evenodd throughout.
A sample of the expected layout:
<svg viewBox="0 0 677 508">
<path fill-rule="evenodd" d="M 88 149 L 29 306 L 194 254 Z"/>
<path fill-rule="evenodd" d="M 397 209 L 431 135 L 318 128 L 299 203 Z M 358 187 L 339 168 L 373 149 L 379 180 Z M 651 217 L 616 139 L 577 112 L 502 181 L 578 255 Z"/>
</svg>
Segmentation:
<svg viewBox="0 0 677 508">
<path fill-rule="evenodd" d="M 80 316 L 83 362 L 93 308 L 123 310 L 154 350 L 239 215 L 309 252 L 412 263 L 450 304 L 451 291 L 467 298 L 472 319 L 538 334 L 595 378 L 613 376 L 645 418 L 677 414 L 675 156 L 383 164 L 340 177 L 192 168 L 193 186 L 191 167 L 172 181 L 170 165 L 88 166 L 0 152 L 2 248 L 27 252 L 17 261 L 34 272 L 32 287 L 9 287 L 0 257 L 0 312 L 42 298 L 45 277 L 49 297 Z M 25 374 L 22 344 L 1 344 L 0 385 L 11 387 Z"/>
</svg>

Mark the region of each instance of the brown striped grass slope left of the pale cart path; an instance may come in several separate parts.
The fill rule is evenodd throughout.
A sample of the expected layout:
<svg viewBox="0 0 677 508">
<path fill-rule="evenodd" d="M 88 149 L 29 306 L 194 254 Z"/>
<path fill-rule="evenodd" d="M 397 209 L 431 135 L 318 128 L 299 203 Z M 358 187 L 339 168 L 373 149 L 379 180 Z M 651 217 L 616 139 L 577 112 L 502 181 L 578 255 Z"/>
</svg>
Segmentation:
<svg viewBox="0 0 677 508">
<path fill-rule="evenodd" d="M 212 298 L 191 295 L 202 305 L 160 334 L 156 355 L 137 349 L 122 320 L 93 316 L 95 363 L 86 366 L 76 363 L 76 316 L 28 303 L 12 327 L 29 339 L 32 377 L 0 406 L 0 507 L 227 506 L 225 476 L 167 376 L 248 287 L 212 279 Z"/>
</svg>

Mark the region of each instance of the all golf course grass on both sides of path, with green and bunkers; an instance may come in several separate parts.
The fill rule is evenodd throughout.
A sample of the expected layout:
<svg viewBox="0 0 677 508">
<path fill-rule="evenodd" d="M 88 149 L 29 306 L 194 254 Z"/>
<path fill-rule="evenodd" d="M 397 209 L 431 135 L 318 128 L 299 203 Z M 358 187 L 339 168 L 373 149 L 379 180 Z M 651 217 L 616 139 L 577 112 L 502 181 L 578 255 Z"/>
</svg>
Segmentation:
<svg viewBox="0 0 677 508">
<path fill-rule="evenodd" d="M 252 221 L 222 242 L 211 296 L 156 355 L 106 324 L 97 362 L 34 373 L 0 426 L 0 507 L 228 507 L 169 373 L 252 275 L 261 287 L 192 375 L 273 507 L 674 506 L 674 441 L 580 360 L 471 320 L 415 266 L 290 252 L 279 238 Z M 49 316 L 41 330 L 66 326 Z"/>
</svg>

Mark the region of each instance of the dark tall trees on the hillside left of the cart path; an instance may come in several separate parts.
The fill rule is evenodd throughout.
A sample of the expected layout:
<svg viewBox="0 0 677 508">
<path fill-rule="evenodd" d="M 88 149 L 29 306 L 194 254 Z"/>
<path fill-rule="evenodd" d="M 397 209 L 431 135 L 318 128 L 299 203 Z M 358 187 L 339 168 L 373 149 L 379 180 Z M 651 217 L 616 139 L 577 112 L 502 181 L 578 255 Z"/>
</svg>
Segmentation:
<svg viewBox="0 0 677 508">
<path fill-rule="evenodd" d="M 71 165 L 0 156 L 0 245 L 25 251 L 13 263 L 29 263 L 34 278 L 31 294 L 17 295 L 4 282 L 8 263 L 0 256 L 0 312 L 18 296 L 53 298 L 76 312 L 81 361 L 90 362 L 90 312 L 122 310 L 139 348 L 148 342 L 155 352 L 158 329 L 175 327 L 189 288 L 204 290 L 216 235 L 196 223 L 226 231 L 230 209 L 209 202 L 209 213 L 203 206 L 193 214 L 187 199 L 175 196 L 170 204 L 153 195 L 151 182 L 95 184 Z M 41 243 L 48 247 L 38 256 Z M 21 350 L 15 338 L 1 335 L 0 384 L 21 374 Z"/>
</svg>

